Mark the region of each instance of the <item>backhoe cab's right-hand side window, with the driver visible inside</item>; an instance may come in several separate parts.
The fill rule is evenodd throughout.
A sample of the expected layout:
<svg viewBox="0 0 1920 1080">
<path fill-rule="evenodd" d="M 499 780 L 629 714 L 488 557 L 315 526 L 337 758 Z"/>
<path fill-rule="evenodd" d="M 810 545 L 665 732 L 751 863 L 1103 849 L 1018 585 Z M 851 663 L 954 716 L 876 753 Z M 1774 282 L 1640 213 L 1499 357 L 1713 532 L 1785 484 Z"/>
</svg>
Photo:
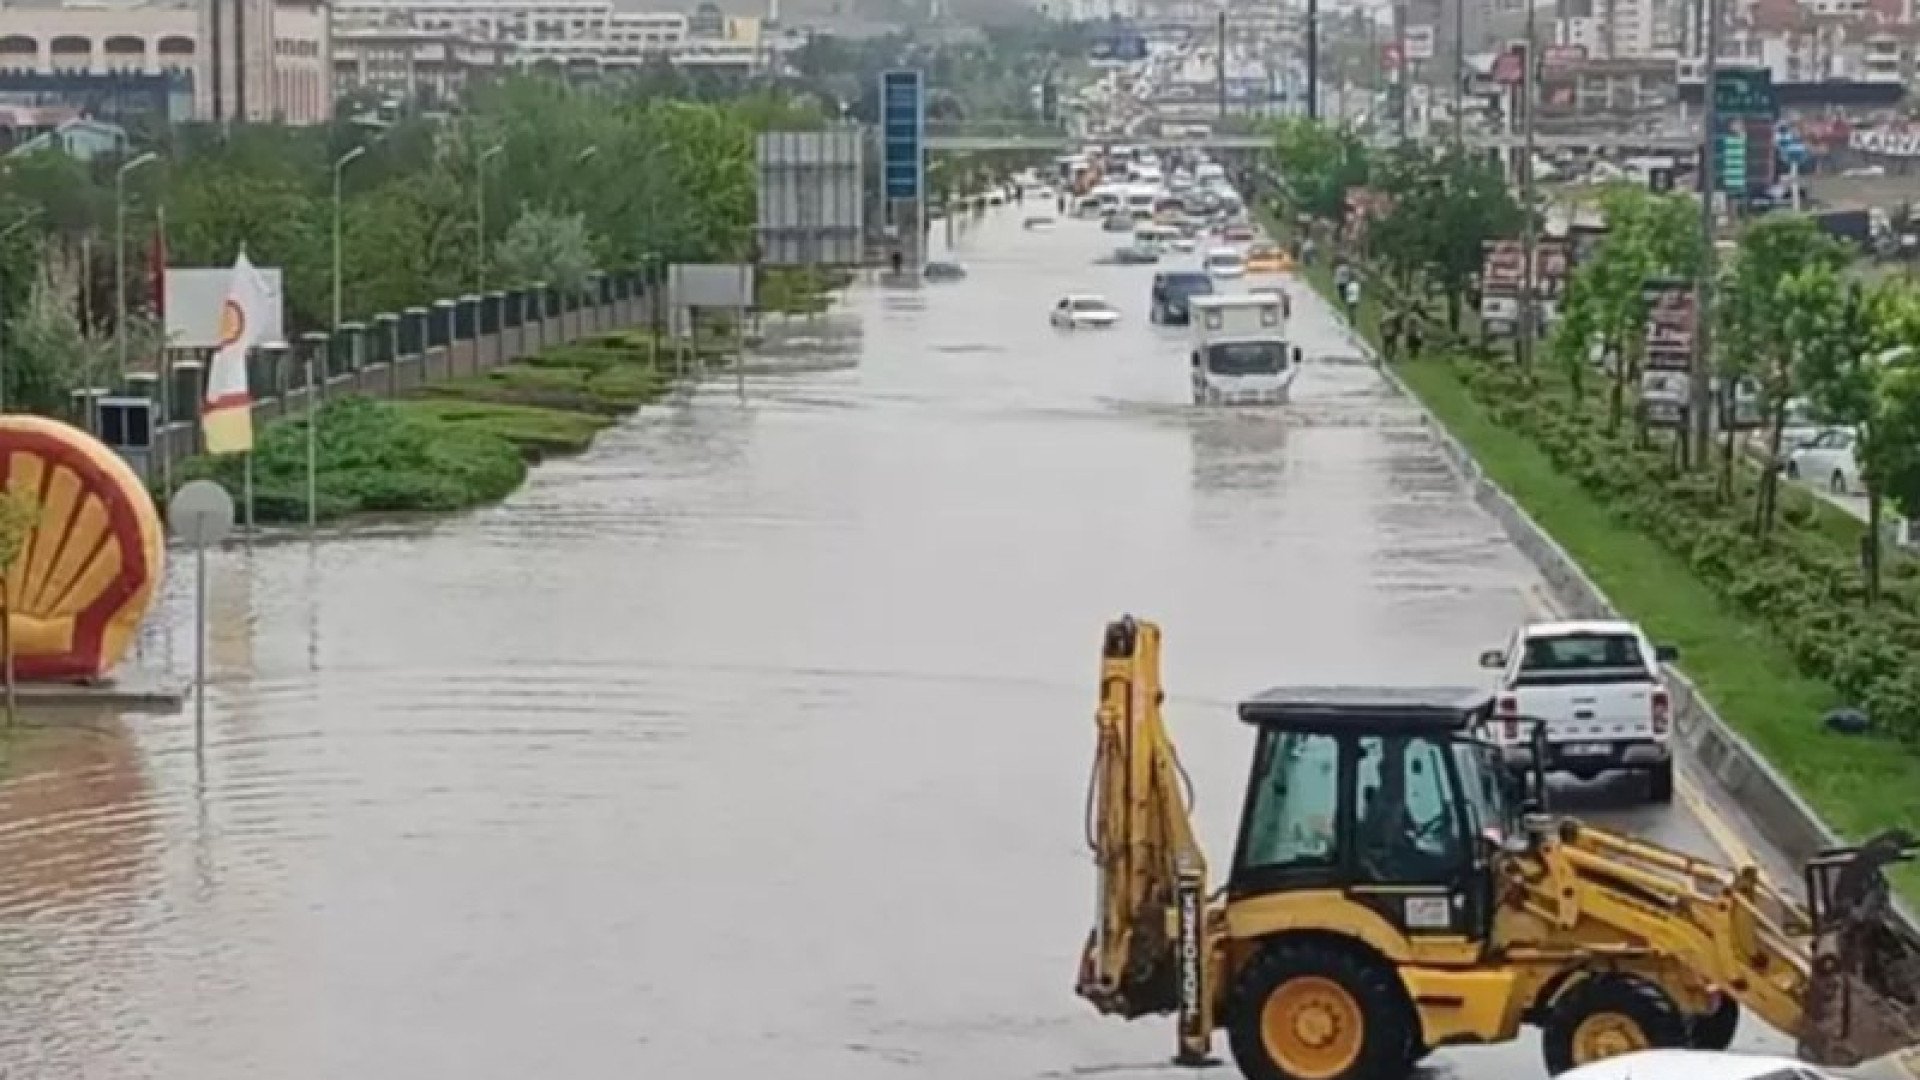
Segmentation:
<svg viewBox="0 0 1920 1080">
<path fill-rule="evenodd" d="M 1446 882 L 1467 865 L 1450 755 L 1450 742 L 1427 736 L 1359 740 L 1354 847 L 1361 880 Z"/>
</svg>

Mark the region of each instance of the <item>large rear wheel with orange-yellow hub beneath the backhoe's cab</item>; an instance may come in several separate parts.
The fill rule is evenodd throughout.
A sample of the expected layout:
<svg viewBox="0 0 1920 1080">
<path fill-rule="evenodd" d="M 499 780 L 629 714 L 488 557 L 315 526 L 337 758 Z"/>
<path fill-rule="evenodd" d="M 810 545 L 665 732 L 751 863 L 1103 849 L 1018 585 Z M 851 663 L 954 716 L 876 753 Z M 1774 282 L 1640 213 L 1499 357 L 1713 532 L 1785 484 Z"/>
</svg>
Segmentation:
<svg viewBox="0 0 1920 1080">
<path fill-rule="evenodd" d="M 1311 940 L 1260 949 L 1227 1003 L 1248 1080 L 1402 1080 L 1417 1024 L 1394 969 Z"/>
</svg>

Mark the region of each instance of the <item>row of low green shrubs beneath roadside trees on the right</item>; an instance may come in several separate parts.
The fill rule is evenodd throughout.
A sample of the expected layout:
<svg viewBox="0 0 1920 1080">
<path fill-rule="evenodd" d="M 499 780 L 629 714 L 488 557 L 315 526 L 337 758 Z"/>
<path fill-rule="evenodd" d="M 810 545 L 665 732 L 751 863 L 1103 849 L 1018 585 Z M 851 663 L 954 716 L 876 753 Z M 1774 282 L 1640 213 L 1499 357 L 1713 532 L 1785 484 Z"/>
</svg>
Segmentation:
<svg viewBox="0 0 1920 1080">
<path fill-rule="evenodd" d="M 1764 621 L 1807 675 L 1864 707 L 1878 730 L 1920 746 L 1920 575 L 1910 559 L 1887 563 L 1884 601 L 1868 607 L 1851 542 L 1859 530 L 1834 528 L 1807 492 L 1782 484 L 1780 517 L 1763 542 L 1753 532 L 1755 469 L 1740 465 L 1734 498 L 1722 498 L 1718 471 L 1678 471 L 1665 440 L 1638 444 L 1630 425 L 1609 434 L 1599 398 L 1528 386 L 1511 363 L 1453 363 L 1494 423 L 1530 438 L 1728 605 Z"/>
</svg>

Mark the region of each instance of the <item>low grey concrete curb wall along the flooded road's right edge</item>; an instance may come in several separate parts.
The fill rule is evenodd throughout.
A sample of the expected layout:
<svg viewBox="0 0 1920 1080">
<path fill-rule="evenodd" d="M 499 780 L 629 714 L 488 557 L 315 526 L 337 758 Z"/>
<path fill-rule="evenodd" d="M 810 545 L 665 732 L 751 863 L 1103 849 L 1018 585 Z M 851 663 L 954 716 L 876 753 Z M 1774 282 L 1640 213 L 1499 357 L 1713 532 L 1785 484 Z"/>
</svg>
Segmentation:
<svg viewBox="0 0 1920 1080">
<path fill-rule="evenodd" d="M 1369 359 L 1375 359 L 1375 350 L 1369 344 L 1361 342 L 1361 348 Z M 1540 571 L 1553 600 L 1578 619 L 1620 619 L 1622 615 L 1613 607 L 1605 592 L 1586 577 L 1586 571 L 1540 528 L 1513 496 L 1486 477 L 1473 454 L 1453 438 L 1453 432 L 1421 402 L 1419 394 L 1390 365 L 1375 361 L 1375 367 L 1396 394 L 1413 404 L 1421 423 L 1446 455 L 1448 465 L 1473 490 L 1475 503 L 1500 523 L 1507 540 Z M 1745 736 L 1715 713 L 1713 705 L 1686 673 L 1668 667 L 1667 675 L 1672 680 L 1674 734 L 1682 748 L 1701 765 L 1705 778 L 1713 780 L 1728 801 L 1745 811 L 1768 846 L 1799 867 L 1822 849 L 1843 844 L 1839 834 L 1820 821 L 1820 815 L 1814 813 L 1807 799 L 1753 749 Z M 1897 915 L 1910 932 L 1920 934 L 1920 920 L 1914 919 L 1914 913 L 1905 903 L 1897 903 Z M 1897 1065 L 1907 1076 L 1920 1080 L 1920 1053 L 1908 1053 Z"/>
</svg>

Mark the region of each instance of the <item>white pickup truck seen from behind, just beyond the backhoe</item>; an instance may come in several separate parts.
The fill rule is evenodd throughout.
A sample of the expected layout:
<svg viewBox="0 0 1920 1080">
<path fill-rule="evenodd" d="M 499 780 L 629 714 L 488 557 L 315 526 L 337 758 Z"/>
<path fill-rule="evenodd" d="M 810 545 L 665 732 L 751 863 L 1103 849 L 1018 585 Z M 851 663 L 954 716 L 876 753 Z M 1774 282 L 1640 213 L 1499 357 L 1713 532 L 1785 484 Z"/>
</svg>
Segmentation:
<svg viewBox="0 0 1920 1080">
<path fill-rule="evenodd" d="M 1582 780 L 1645 773 L 1651 799 L 1672 801 L 1672 698 L 1663 665 L 1678 657 L 1632 623 L 1528 623 L 1505 650 L 1480 653 L 1480 667 L 1500 671 L 1494 740 L 1511 769 L 1530 771 L 1532 723 L 1540 721 L 1546 773 Z"/>
</svg>

